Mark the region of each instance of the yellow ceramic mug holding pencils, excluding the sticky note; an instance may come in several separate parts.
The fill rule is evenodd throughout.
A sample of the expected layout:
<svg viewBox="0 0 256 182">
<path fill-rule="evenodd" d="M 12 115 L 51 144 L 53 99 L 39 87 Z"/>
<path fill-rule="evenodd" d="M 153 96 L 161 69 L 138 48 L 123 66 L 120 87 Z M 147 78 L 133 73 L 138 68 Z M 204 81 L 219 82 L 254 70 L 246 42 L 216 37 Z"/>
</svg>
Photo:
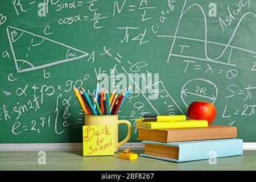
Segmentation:
<svg viewBox="0 0 256 182">
<path fill-rule="evenodd" d="M 114 152 L 128 142 L 131 138 L 131 123 L 127 120 L 118 120 L 118 115 L 85 115 L 85 125 L 113 125 L 114 130 Z M 128 127 L 127 136 L 121 142 L 118 142 L 118 125 L 126 124 Z"/>
</svg>

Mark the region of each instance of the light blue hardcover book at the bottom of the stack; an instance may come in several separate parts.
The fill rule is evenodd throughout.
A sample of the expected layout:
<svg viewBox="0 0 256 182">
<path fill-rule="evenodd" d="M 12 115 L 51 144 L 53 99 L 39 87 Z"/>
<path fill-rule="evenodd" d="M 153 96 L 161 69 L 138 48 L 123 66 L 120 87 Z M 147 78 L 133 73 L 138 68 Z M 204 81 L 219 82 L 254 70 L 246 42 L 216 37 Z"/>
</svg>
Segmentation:
<svg viewBox="0 0 256 182">
<path fill-rule="evenodd" d="M 236 138 L 169 143 L 142 141 L 142 143 L 145 144 L 145 154 L 141 156 L 177 163 L 243 155 L 243 140 Z"/>
</svg>

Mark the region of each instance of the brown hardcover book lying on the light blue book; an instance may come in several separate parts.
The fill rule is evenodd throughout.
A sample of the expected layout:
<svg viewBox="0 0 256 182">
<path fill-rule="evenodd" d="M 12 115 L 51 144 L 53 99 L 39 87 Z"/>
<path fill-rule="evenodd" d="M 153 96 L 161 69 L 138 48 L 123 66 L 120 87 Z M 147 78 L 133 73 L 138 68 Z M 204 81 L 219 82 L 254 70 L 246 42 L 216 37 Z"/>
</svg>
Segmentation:
<svg viewBox="0 0 256 182">
<path fill-rule="evenodd" d="M 236 138 L 237 127 L 209 125 L 209 127 L 193 129 L 138 129 L 138 133 L 138 140 L 151 140 L 156 142 L 182 142 L 192 140 Z"/>
</svg>

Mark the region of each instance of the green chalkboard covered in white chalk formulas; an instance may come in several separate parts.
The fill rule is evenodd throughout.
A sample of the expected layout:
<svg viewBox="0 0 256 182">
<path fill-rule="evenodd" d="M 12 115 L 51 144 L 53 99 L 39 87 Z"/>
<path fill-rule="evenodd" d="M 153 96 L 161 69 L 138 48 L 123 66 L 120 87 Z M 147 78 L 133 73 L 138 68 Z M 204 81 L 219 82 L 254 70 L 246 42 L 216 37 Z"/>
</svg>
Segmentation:
<svg viewBox="0 0 256 182">
<path fill-rule="evenodd" d="M 81 142 L 73 86 L 132 85 L 120 119 L 187 114 L 256 142 L 256 2 L 12 0 L 0 3 L 0 143 Z M 119 139 L 126 126 L 119 127 Z"/>
</svg>

